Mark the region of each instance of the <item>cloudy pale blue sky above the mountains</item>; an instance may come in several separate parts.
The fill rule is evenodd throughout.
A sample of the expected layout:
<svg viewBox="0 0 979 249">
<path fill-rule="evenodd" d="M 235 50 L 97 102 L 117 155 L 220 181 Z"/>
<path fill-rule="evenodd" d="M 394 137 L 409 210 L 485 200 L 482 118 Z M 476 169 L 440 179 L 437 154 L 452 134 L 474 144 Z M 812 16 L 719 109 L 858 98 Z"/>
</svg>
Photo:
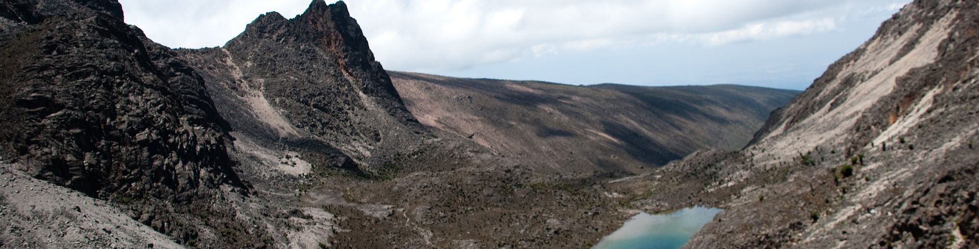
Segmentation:
<svg viewBox="0 0 979 249">
<path fill-rule="evenodd" d="M 223 45 L 260 14 L 302 14 L 310 0 L 119 2 L 125 21 L 154 41 L 204 48 Z M 575 85 L 803 90 L 910 0 L 345 2 L 389 70 Z"/>
</svg>

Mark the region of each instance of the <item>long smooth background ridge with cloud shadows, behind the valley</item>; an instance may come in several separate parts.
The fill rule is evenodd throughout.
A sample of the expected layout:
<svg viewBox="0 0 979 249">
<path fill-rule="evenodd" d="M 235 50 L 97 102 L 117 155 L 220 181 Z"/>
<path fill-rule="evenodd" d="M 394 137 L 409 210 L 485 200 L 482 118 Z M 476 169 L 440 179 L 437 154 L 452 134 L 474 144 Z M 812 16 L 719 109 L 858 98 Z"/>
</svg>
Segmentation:
<svg viewBox="0 0 979 249">
<path fill-rule="evenodd" d="M 639 173 L 699 149 L 740 149 L 798 93 L 391 75 L 422 124 L 563 173 Z"/>
</svg>

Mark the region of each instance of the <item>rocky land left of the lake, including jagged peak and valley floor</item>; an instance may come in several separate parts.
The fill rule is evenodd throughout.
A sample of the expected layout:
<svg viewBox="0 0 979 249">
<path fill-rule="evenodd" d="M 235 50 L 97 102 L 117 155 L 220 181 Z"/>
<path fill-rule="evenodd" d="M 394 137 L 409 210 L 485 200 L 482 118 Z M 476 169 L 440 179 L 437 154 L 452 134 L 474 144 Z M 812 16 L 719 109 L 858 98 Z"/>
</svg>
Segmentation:
<svg viewBox="0 0 979 249">
<path fill-rule="evenodd" d="M 122 18 L 0 3 L 0 247 L 581 248 L 627 215 L 419 124 L 343 2 L 202 50 Z"/>
</svg>

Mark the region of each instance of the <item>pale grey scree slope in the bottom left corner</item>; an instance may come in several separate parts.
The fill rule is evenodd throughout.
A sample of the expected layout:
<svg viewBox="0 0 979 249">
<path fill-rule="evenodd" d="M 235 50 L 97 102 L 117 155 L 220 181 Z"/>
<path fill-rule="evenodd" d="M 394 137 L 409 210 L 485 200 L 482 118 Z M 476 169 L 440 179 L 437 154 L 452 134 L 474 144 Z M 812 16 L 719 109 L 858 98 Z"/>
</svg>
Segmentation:
<svg viewBox="0 0 979 249">
<path fill-rule="evenodd" d="M 0 164 L 0 247 L 183 248 L 111 202 Z"/>
</svg>

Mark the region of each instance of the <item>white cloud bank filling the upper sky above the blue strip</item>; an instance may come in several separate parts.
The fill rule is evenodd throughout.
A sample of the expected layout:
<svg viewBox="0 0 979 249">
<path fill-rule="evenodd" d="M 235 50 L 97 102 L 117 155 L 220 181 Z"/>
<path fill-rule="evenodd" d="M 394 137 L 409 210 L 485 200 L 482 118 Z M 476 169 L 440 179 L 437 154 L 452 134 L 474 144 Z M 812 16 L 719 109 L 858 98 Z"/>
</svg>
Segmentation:
<svg viewBox="0 0 979 249">
<path fill-rule="evenodd" d="M 127 22 L 171 47 L 222 45 L 258 14 L 308 0 L 123 0 Z M 829 32 L 908 0 L 349 0 L 385 66 L 447 70 L 573 51 L 728 43 Z"/>
</svg>

